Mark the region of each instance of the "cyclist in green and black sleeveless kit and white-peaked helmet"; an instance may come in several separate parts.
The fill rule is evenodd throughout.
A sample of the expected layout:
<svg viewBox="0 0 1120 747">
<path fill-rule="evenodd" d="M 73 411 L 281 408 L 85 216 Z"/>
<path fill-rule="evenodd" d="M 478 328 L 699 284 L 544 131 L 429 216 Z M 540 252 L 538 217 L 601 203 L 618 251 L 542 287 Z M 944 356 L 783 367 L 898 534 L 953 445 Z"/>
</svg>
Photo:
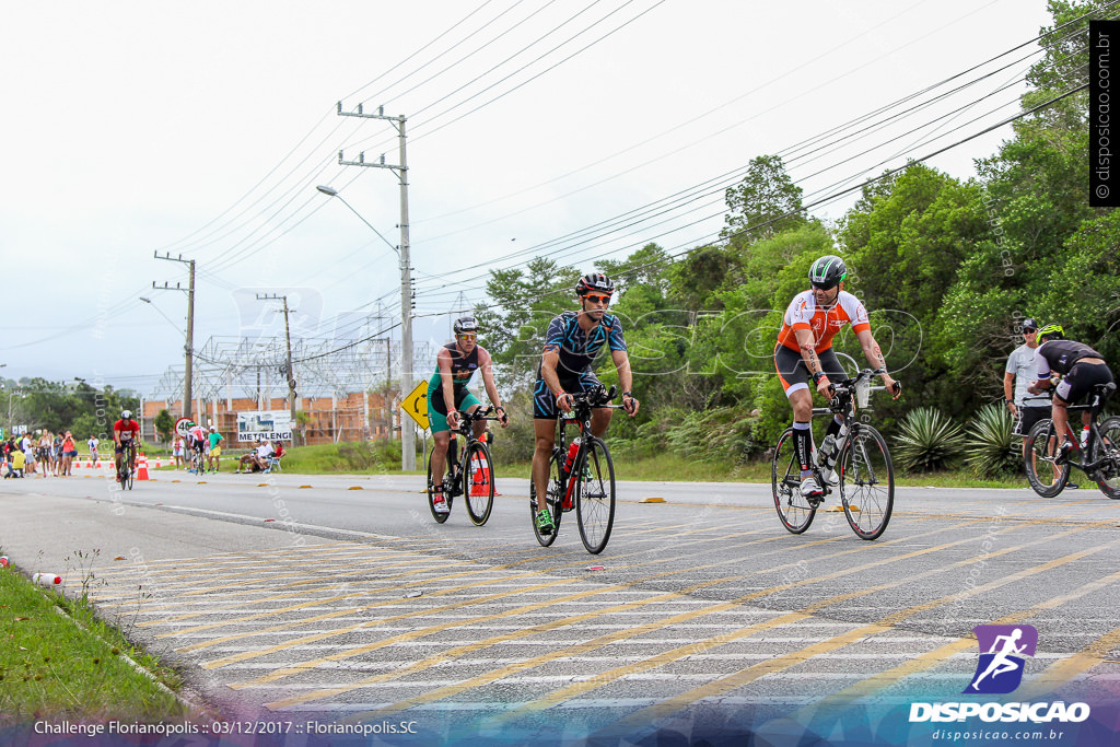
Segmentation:
<svg viewBox="0 0 1120 747">
<path fill-rule="evenodd" d="M 494 385 L 494 368 L 491 355 L 478 345 L 478 323 L 474 317 L 459 317 L 455 320 L 455 342 L 439 349 L 436 356 L 436 373 L 428 382 L 428 421 L 436 446 L 431 452 L 432 506 L 439 513 L 447 513 L 447 501 L 444 498 L 444 482 L 437 475 L 444 475 L 447 469 L 447 446 L 451 441 L 451 428 L 459 424 L 459 412 L 473 412 L 482 407 L 482 402 L 470 393 L 467 384 L 475 371 L 483 372 L 483 385 L 486 395 L 502 419 L 502 428 L 510 424 L 510 417 L 502 407 L 502 398 Z M 451 402 L 448 408 L 447 403 Z M 486 428 L 485 421 L 476 422 L 475 436 L 479 437 Z"/>
</svg>

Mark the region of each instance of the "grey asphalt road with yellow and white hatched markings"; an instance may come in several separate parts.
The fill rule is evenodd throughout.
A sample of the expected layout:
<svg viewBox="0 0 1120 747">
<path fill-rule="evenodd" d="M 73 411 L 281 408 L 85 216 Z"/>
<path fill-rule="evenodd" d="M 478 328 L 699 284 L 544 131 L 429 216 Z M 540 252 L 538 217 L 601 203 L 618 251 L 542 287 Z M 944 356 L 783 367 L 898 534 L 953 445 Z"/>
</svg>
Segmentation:
<svg viewBox="0 0 1120 747">
<path fill-rule="evenodd" d="M 898 488 L 866 542 L 836 512 L 787 533 L 768 485 L 626 483 L 590 555 L 567 517 L 536 543 L 524 479 L 478 527 L 461 504 L 436 524 L 420 477 L 84 474 L 0 482 L 0 548 L 231 718 L 298 734 L 829 734 L 960 700 L 991 623 L 1038 631 L 1016 699 L 1117 690 L 1120 504 L 1096 491 Z"/>
</svg>

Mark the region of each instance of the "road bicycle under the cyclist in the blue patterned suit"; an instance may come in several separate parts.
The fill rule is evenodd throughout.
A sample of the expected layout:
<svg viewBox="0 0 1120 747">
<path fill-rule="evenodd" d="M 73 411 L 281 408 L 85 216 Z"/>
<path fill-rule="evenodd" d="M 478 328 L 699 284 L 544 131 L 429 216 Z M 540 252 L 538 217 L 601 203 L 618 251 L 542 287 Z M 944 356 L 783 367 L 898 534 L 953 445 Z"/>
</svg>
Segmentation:
<svg viewBox="0 0 1120 747">
<path fill-rule="evenodd" d="M 592 555 L 603 552 L 610 539 L 615 522 L 615 466 L 610 450 L 603 439 L 591 435 L 591 411 L 597 408 L 612 410 L 622 405 L 610 404 L 617 387 L 597 386 L 572 394 L 572 410 L 560 415 L 560 435 L 549 458 L 549 483 L 544 507 L 552 516 L 552 533 L 542 534 L 536 526 L 536 485 L 529 480 L 529 520 L 542 547 L 552 544 L 560 533 L 560 519 L 572 508 L 579 522 L 584 547 Z M 568 423 L 579 427 L 579 435 L 569 443 Z"/>
</svg>

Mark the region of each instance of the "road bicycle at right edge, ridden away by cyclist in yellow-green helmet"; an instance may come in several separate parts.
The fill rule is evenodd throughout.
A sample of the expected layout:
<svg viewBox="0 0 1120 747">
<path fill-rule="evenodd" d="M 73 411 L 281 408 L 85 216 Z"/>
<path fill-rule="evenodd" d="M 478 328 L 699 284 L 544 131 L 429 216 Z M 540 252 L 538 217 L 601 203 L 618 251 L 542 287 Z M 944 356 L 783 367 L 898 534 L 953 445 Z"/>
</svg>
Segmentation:
<svg viewBox="0 0 1120 747">
<path fill-rule="evenodd" d="M 1090 390 L 1088 404 L 1066 408 L 1071 421 L 1076 412 L 1089 412 L 1090 421 L 1089 440 L 1084 446 L 1074 433 L 1072 424 L 1066 422 L 1066 436 L 1073 443 L 1073 449 L 1065 457 L 1061 454 L 1054 421 L 1046 419 L 1034 424 L 1027 435 L 1024 467 L 1035 493 L 1044 498 L 1053 498 L 1065 488 L 1070 468 L 1077 467 L 1096 483 L 1101 493 L 1112 499 L 1120 498 L 1120 417 L 1113 415 L 1098 422 L 1101 411 L 1116 391 L 1113 382 L 1096 384 Z"/>
</svg>

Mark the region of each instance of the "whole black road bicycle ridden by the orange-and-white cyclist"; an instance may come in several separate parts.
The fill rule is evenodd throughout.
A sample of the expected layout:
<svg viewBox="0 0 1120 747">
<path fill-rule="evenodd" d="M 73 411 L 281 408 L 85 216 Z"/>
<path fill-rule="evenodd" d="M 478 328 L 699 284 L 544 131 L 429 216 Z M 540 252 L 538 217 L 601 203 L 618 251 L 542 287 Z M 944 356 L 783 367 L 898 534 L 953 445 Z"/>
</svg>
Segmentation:
<svg viewBox="0 0 1120 747">
<path fill-rule="evenodd" d="M 857 405 L 866 408 L 870 393 L 884 386 L 871 386 L 871 376 L 884 368 L 864 368 L 855 379 L 841 379 L 833 385 L 833 396 L 827 408 L 813 408 L 813 414 L 841 414 L 844 418 L 836 446 L 819 454 L 822 464 L 813 466 L 813 477 L 823 488 L 815 497 L 801 495 L 801 463 L 793 446 L 793 428 L 786 428 L 774 447 L 771 482 L 774 507 L 782 525 L 801 534 L 813 523 L 816 510 L 832 488 L 840 491 L 844 516 L 856 535 L 875 540 L 890 521 L 895 503 L 895 470 L 890 451 L 883 435 L 872 426 L 856 419 Z M 823 445 L 822 445 L 823 449 Z"/>
</svg>

